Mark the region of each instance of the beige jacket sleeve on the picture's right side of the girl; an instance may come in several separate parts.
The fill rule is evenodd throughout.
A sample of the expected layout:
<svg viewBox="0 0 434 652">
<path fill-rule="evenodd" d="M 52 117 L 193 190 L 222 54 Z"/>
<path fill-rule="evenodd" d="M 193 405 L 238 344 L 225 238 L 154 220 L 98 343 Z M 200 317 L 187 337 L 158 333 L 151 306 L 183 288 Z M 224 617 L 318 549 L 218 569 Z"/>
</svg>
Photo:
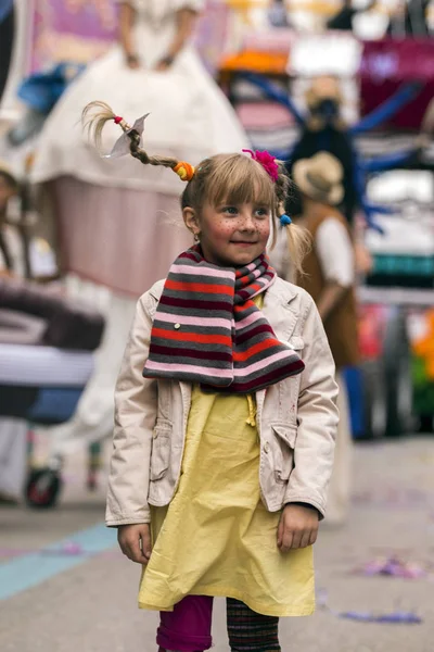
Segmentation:
<svg viewBox="0 0 434 652">
<path fill-rule="evenodd" d="M 306 293 L 306 318 L 303 327 L 305 371 L 298 394 L 298 428 L 294 450 L 294 469 L 285 503 L 303 502 L 326 513 L 327 488 L 333 467 L 337 430 L 337 385 L 335 367 L 321 317 L 314 300 Z"/>
</svg>

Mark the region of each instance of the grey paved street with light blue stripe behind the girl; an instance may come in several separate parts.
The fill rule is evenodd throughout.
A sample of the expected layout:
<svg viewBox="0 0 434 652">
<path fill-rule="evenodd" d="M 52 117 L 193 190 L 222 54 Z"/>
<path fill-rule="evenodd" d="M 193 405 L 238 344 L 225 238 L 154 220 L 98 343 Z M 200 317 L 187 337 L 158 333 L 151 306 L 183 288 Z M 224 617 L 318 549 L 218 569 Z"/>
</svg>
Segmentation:
<svg viewBox="0 0 434 652">
<path fill-rule="evenodd" d="M 412 580 L 363 577 L 354 569 L 395 553 L 430 572 L 434 437 L 359 443 L 354 471 L 350 519 L 341 529 L 322 526 L 316 547 L 317 588 L 328 607 L 310 618 L 283 619 L 282 650 L 433 652 L 434 567 L 431 578 Z M 113 531 L 94 527 L 103 518 L 104 479 L 97 493 L 86 493 L 82 454 L 68 461 L 65 477 L 54 511 L 0 509 L 1 652 L 156 651 L 156 616 L 136 609 L 139 568 L 112 546 Z M 58 554 L 47 551 L 50 546 Z M 369 611 L 412 612 L 423 622 L 372 624 L 339 616 Z M 215 652 L 228 651 L 220 600 L 214 638 Z"/>
</svg>

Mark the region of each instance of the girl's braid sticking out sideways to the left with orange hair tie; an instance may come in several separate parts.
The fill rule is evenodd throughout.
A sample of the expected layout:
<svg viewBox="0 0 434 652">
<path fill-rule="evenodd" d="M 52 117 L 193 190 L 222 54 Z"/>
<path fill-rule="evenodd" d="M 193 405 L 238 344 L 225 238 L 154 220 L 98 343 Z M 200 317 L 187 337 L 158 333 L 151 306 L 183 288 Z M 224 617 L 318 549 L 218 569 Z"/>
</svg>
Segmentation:
<svg viewBox="0 0 434 652">
<path fill-rule="evenodd" d="M 88 135 L 93 133 L 93 141 L 99 150 L 102 146 L 102 131 L 105 124 L 114 121 L 120 126 L 123 131 L 130 139 L 129 150 L 131 156 L 138 159 L 144 165 L 162 165 L 169 167 L 186 181 L 189 181 L 194 175 L 194 167 L 184 161 L 178 161 L 173 156 L 150 156 L 148 152 L 140 147 L 141 135 L 133 129 L 123 117 L 117 116 L 111 106 L 105 102 L 90 102 L 81 114 L 81 122 L 88 130 Z"/>
</svg>

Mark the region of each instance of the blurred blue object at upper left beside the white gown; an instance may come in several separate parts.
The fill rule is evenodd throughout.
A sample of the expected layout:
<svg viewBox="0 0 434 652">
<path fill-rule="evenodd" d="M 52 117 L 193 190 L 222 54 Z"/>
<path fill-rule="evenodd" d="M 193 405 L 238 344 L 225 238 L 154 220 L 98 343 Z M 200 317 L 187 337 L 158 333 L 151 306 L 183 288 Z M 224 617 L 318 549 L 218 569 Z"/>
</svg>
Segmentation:
<svg viewBox="0 0 434 652">
<path fill-rule="evenodd" d="M 44 73 L 34 73 L 18 87 L 18 98 L 30 109 L 48 115 L 68 84 L 85 67 L 82 64 L 65 61 Z"/>
</svg>

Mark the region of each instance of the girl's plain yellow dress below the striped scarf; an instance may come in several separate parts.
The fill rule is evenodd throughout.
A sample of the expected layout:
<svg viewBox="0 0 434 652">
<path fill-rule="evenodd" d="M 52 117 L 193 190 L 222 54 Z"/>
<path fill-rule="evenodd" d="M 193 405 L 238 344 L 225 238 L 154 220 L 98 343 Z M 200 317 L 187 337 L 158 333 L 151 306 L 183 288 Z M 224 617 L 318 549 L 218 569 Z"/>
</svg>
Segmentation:
<svg viewBox="0 0 434 652">
<path fill-rule="evenodd" d="M 194 387 L 177 492 L 151 507 L 141 609 L 171 611 L 191 594 L 234 598 L 269 616 L 314 612 L 312 548 L 281 553 L 280 513 L 260 501 L 255 411 L 252 397 Z"/>
</svg>

